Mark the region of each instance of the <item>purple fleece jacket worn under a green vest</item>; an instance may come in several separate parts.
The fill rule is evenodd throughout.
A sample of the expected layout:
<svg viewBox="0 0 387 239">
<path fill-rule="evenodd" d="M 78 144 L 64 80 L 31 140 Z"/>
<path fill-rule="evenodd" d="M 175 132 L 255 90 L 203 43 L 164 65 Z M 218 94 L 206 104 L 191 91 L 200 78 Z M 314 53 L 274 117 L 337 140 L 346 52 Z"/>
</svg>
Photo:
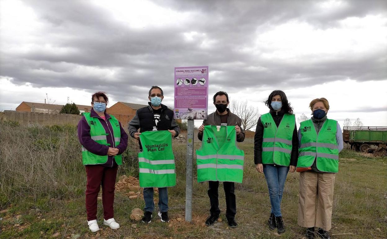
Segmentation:
<svg viewBox="0 0 387 239">
<path fill-rule="evenodd" d="M 94 109 L 91 109 L 90 112 L 91 112 L 90 116 L 97 117 L 99 119 L 99 122 L 101 122 L 102 126 L 104 127 L 106 134 L 109 134 L 106 138 L 110 146 L 99 144 L 96 141 L 91 139 L 90 126 L 87 123 L 84 116 L 82 116 L 82 119 L 80 119 L 78 123 L 78 138 L 79 138 L 80 144 L 82 144 L 91 153 L 94 153 L 96 155 L 108 155 L 109 147 L 118 148 L 118 151 L 119 151 L 118 154 L 122 154 L 125 151 L 126 147 L 128 146 L 128 135 L 125 132 L 125 130 L 122 128 L 121 123 L 120 123 L 121 141 L 120 141 L 120 144 L 115 146 L 113 141 L 114 136 L 113 138 L 110 136 L 110 132 L 113 133 L 113 127 L 111 127 L 111 124 L 108 121 L 108 119 L 111 118 L 110 115 L 108 115 L 105 112 L 105 117 L 106 117 L 106 121 L 105 121 L 98 116 L 98 114 L 94 111 Z M 104 163 L 102 166 L 106 166 L 106 167 L 116 166 L 117 163 L 115 160 L 113 160 L 113 158 L 114 158 L 113 156 L 108 156 L 108 161 Z"/>
</svg>

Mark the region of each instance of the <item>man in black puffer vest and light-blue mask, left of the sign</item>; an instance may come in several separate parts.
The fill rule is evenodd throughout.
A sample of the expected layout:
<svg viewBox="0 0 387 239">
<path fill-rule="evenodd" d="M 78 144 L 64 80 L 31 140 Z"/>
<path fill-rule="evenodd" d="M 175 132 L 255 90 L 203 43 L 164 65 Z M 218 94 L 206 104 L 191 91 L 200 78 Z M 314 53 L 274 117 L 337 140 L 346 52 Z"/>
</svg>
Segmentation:
<svg viewBox="0 0 387 239">
<path fill-rule="evenodd" d="M 149 106 L 138 109 L 134 118 L 129 122 L 129 134 L 139 141 L 140 151 L 142 151 L 142 146 L 139 139 L 142 132 L 168 130 L 172 137 L 177 137 L 180 133 L 180 128 L 173 119 L 173 111 L 161 104 L 163 98 L 163 90 L 158 86 L 152 86 L 148 96 Z M 154 210 L 153 187 L 144 188 L 144 200 L 145 208 L 142 222 L 150 223 Z M 161 222 L 168 222 L 168 190 L 166 187 L 159 188 L 159 209 L 158 215 Z"/>
</svg>

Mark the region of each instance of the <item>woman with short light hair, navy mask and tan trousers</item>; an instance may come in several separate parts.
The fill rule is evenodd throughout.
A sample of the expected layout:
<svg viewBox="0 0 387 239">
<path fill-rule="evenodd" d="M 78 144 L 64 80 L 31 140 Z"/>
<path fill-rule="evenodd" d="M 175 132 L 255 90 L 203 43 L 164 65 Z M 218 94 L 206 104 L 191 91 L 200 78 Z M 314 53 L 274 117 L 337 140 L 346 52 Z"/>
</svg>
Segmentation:
<svg viewBox="0 0 387 239">
<path fill-rule="evenodd" d="M 310 102 L 312 118 L 300 124 L 298 131 L 300 172 L 298 225 L 306 227 L 306 236 L 329 239 L 332 224 L 333 187 L 339 171 L 339 152 L 343 148 L 341 127 L 328 119 L 329 102 L 317 98 Z"/>
</svg>

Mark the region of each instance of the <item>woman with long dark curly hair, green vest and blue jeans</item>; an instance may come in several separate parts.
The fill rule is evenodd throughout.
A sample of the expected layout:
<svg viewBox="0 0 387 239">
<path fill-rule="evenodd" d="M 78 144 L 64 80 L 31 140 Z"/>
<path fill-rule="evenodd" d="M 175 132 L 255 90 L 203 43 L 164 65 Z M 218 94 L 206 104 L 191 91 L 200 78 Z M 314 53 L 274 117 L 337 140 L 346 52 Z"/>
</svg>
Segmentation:
<svg viewBox="0 0 387 239">
<path fill-rule="evenodd" d="M 269 229 L 285 232 L 281 199 L 288 172 L 295 172 L 298 158 L 296 118 L 288 98 L 273 91 L 265 101 L 269 113 L 261 115 L 254 136 L 254 163 L 264 173 L 271 203 Z"/>
</svg>

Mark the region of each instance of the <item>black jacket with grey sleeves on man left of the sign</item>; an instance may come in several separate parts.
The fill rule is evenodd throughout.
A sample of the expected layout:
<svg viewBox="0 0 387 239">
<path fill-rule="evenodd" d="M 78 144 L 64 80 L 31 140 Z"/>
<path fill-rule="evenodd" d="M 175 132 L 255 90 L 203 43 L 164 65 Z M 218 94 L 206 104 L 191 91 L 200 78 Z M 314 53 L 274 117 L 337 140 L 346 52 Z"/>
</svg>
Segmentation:
<svg viewBox="0 0 387 239">
<path fill-rule="evenodd" d="M 134 138 L 134 133 L 140 129 L 141 132 L 152 131 L 153 127 L 156 127 L 156 122 L 154 122 L 153 108 L 151 102 L 148 103 L 149 106 L 140 108 L 136 111 L 136 115 L 130 120 L 128 124 L 128 131 L 130 136 Z M 161 115 L 159 122 L 157 124 L 157 130 L 175 130 L 177 137 L 180 134 L 180 128 L 176 124 L 175 119 L 173 119 L 173 111 L 168 109 L 166 105 L 161 104 Z M 140 149 L 142 149 L 141 143 L 139 141 Z"/>
</svg>

